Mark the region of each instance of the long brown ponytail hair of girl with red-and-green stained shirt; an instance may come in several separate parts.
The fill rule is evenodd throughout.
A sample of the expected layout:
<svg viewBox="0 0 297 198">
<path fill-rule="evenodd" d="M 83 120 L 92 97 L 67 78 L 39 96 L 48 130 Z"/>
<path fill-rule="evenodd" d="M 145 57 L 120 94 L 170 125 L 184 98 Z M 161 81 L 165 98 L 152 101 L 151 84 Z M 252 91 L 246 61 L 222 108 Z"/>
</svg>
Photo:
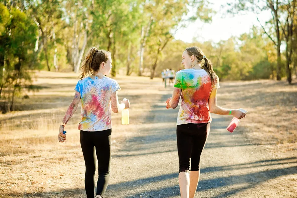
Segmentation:
<svg viewBox="0 0 297 198">
<path fill-rule="evenodd" d="M 204 64 L 201 66 L 201 68 L 204 69 L 210 76 L 211 84 L 215 85 L 217 83 L 217 75 L 213 71 L 213 64 L 208 58 L 205 57 L 202 50 L 199 47 L 194 46 L 186 48 L 185 51 L 187 51 L 189 56 L 196 56 L 198 63 L 201 63 L 204 59 Z"/>
</svg>

